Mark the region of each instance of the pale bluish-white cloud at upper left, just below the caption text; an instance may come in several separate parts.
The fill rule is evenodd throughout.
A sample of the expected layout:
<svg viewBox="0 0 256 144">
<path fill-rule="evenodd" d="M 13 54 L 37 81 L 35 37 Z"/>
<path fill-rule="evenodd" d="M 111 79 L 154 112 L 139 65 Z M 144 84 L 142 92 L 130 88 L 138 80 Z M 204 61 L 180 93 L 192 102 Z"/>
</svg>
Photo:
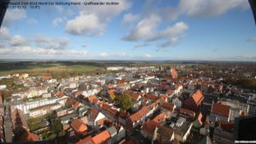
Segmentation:
<svg viewBox="0 0 256 144">
<path fill-rule="evenodd" d="M 3 26 L 9 26 L 16 20 L 26 19 L 26 11 L 24 9 L 7 9 L 3 18 Z"/>
</svg>

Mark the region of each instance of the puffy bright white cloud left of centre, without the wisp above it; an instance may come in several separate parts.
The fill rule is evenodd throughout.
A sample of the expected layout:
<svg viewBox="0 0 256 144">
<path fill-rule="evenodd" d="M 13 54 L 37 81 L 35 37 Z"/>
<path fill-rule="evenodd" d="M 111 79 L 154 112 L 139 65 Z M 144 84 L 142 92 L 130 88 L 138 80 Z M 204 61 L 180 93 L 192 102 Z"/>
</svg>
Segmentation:
<svg viewBox="0 0 256 144">
<path fill-rule="evenodd" d="M 102 35 L 104 25 L 96 14 L 84 14 L 81 12 L 74 20 L 68 20 L 65 30 L 75 35 Z"/>
</svg>

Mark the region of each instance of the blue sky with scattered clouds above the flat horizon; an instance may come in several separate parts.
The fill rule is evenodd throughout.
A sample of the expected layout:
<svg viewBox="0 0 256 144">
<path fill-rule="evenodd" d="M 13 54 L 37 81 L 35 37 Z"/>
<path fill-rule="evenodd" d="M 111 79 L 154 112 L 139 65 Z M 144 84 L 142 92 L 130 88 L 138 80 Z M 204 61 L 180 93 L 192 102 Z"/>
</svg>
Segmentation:
<svg viewBox="0 0 256 144">
<path fill-rule="evenodd" d="M 247 0 L 112 1 L 8 9 L 0 59 L 256 61 Z"/>
</svg>

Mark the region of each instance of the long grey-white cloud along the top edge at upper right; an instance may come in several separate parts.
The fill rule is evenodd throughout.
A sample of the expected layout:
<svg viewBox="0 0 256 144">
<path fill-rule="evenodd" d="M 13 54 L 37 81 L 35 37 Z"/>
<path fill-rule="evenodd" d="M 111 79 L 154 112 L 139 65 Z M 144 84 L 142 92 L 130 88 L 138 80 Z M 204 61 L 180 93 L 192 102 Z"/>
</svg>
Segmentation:
<svg viewBox="0 0 256 144">
<path fill-rule="evenodd" d="M 191 17 L 212 17 L 228 12 L 230 9 L 247 9 L 246 0 L 180 0 L 177 8 L 167 8 L 163 14 L 168 19 L 174 20 L 180 14 L 188 14 Z"/>
</svg>

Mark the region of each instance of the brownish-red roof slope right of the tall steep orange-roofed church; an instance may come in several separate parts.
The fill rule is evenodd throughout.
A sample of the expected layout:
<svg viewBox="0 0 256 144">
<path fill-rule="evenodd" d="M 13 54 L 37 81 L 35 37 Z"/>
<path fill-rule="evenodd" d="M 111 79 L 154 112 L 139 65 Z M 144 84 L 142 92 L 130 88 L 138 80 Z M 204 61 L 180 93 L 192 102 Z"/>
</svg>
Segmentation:
<svg viewBox="0 0 256 144">
<path fill-rule="evenodd" d="M 224 117 L 229 117 L 230 115 L 230 106 L 223 105 L 220 103 L 213 103 L 212 104 L 212 113 L 218 114 Z"/>
</svg>

